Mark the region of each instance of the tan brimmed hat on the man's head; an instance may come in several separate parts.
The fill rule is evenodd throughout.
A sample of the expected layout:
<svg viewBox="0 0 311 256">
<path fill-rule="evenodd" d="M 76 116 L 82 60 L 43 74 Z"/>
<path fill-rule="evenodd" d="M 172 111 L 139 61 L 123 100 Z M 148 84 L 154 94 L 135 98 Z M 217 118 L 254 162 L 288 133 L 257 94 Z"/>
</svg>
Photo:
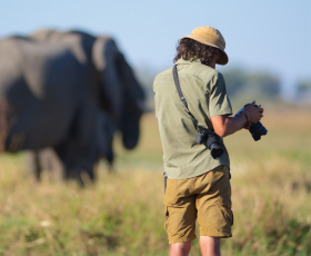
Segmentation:
<svg viewBox="0 0 311 256">
<path fill-rule="evenodd" d="M 218 29 L 212 27 L 199 27 L 192 30 L 191 35 L 185 36 L 183 38 L 191 38 L 198 42 L 214 47 L 220 49 L 221 56 L 220 59 L 217 61 L 218 65 L 227 65 L 229 58 L 224 52 L 225 41 L 222 37 L 221 32 Z"/>
</svg>

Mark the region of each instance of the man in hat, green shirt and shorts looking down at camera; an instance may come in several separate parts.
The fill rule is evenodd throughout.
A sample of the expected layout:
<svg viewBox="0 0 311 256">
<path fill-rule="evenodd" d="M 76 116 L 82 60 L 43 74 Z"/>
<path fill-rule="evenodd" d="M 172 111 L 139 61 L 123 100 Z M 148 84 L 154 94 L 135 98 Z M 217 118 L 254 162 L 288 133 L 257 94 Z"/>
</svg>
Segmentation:
<svg viewBox="0 0 311 256">
<path fill-rule="evenodd" d="M 170 256 L 187 256 L 200 225 L 203 256 L 220 255 L 220 238 L 231 237 L 230 161 L 222 137 L 249 128 L 263 116 L 254 101 L 237 117 L 232 115 L 222 75 L 215 63 L 227 65 L 225 42 L 219 30 L 199 27 L 177 47 L 174 63 L 181 91 L 178 93 L 172 68 L 159 73 L 153 83 L 156 116 L 168 177 L 164 206 Z M 193 116 L 193 122 L 189 114 Z M 194 125 L 195 124 L 195 125 Z M 194 126 L 214 131 L 223 154 L 214 159 L 203 144 L 197 144 Z"/>
</svg>

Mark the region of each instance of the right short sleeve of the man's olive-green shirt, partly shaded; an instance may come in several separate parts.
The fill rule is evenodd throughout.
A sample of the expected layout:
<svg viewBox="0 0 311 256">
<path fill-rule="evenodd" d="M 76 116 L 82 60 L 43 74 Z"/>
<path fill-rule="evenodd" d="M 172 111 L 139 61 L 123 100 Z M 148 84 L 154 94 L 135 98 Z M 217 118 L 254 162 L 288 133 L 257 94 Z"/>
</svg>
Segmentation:
<svg viewBox="0 0 311 256">
<path fill-rule="evenodd" d="M 223 76 L 218 73 L 210 81 L 210 102 L 209 111 L 210 117 L 221 115 L 232 115 L 232 107 L 230 99 L 227 95 L 225 82 Z"/>
</svg>

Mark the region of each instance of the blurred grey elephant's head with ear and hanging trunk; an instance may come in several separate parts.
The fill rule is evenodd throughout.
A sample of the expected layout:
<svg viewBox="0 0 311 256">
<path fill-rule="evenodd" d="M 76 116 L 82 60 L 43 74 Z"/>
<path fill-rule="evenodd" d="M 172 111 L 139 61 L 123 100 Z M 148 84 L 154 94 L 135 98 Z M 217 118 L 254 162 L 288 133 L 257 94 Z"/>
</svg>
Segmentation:
<svg viewBox="0 0 311 256">
<path fill-rule="evenodd" d="M 123 146 L 132 149 L 139 139 L 139 120 L 144 93 L 132 69 L 111 38 L 100 37 L 92 51 L 102 92 L 109 100 L 110 114 L 122 134 Z"/>
</svg>

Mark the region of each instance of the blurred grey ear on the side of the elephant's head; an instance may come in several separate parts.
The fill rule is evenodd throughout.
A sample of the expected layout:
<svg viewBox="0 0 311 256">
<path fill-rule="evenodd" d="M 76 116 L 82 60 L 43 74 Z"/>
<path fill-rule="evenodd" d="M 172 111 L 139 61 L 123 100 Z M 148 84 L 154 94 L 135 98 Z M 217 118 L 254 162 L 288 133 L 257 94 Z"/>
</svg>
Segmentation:
<svg viewBox="0 0 311 256">
<path fill-rule="evenodd" d="M 109 99 L 111 112 L 116 121 L 122 114 L 123 82 L 118 71 L 119 49 L 111 38 L 99 37 L 92 48 L 93 65 L 99 72 L 102 93 Z"/>
</svg>

